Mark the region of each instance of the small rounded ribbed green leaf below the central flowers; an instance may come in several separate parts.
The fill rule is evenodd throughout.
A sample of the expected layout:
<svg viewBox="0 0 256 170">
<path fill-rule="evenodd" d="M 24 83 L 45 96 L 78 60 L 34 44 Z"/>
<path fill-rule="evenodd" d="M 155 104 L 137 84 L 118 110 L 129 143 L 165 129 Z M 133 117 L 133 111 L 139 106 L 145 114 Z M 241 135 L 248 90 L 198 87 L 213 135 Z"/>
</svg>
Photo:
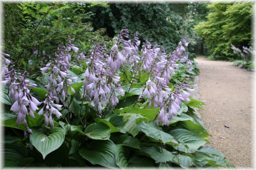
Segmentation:
<svg viewBox="0 0 256 170">
<path fill-rule="evenodd" d="M 95 140 L 108 140 L 110 132 L 110 127 L 104 123 L 92 123 L 84 130 L 86 136 Z"/>
</svg>

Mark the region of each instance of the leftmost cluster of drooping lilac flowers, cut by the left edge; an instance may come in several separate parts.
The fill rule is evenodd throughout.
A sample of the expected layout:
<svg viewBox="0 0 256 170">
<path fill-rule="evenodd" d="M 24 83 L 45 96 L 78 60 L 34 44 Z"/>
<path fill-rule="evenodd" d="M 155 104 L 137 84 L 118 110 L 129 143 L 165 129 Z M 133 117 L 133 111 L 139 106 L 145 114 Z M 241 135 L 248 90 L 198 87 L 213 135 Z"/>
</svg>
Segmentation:
<svg viewBox="0 0 256 170">
<path fill-rule="evenodd" d="M 8 54 L 3 55 L 9 57 Z M 36 84 L 31 84 L 30 81 L 26 80 L 28 75 L 26 72 L 24 73 L 17 73 L 13 69 L 13 63 L 11 60 L 4 59 L 2 73 L 4 80 L 1 81 L 3 85 L 8 85 L 10 90 L 10 95 L 13 99 L 13 105 L 11 106 L 11 110 L 18 113 L 16 125 L 18 126 L 20 122 L 23 123 L 24 126 L 27 125 L 26 122 L 26 115 L 29 114 L 32 118 L 35 118 L 34 112 L 38 110 L 38 107 L 42 102 L 39 102 L 36 98 L 34 98 L 30 94 L 30 90 L 28 87 L 35 87 Z M 9 68 L 6 68 L 6 65 L 9 65 Z M 28 132 L 32 133 L 31 129 L 27 127 Z"/>
</svg>

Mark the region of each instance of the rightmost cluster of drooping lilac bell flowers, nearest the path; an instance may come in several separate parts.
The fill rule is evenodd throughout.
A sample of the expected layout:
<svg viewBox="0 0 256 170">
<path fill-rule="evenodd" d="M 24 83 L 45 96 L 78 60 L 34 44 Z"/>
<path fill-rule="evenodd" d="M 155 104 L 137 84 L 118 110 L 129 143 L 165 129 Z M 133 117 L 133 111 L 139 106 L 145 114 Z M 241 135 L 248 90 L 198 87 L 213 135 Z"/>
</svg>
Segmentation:
<svg viewBox="0 0 256 170">
<path fill-rule="evenodd" d="M 185 47 L 188 46 L 184 37 L 177 50 L 173 51 L 169 56 L 166 55 L 163 47 L 159 48 L 157 44 L 154 44 L 154 47 L 151 48 L 151 44 L 148 41 L 144 43 L 141 49 L 141 62 L 144 72 L 148 72 L 149 80 L 146 82 L 146 86 L 139 98 L 142 96 L 148 98 L 149 106 L 151 106 L 151 102 L 154 102 L 154 108 L 160 106 L 161 110 L 159 111 L 157 123 L 163 122 L 163 125 L 169 125 L 168 116 L 169 119 L 172 119 L 173 115 L 177 115 L 181 102 L 189 102 L 189 96 L 193 92 L 193 89 L 187 88 L 189 83 L 186 81 L 181 82 L 174 89 L 168 87 L 171 76 L 175 74 L 174 69 L 178 67 L 176 62 L 181 59 L 181 55 L 185 51 L 182 44 Z M 188 61 L 188 59 L 186 60 Z"/>
</svg>

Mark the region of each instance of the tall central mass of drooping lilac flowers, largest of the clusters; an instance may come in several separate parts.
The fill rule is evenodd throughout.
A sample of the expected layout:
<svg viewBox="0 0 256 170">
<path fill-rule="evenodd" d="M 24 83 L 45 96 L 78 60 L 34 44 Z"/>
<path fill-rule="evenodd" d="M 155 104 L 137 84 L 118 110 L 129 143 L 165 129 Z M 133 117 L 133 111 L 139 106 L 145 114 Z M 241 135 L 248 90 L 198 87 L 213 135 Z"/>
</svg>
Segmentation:
<svg viewBox="0 0 256 170">
<path fill-rule="evenodd" d="M 95 44 L 87 62 L 88 67 L 84 79 L 86 93 L 83 96 L 87 97 L 89 102 L 92 102 L 93 99 L 94 109 L 99 111 L 100 116 L 104 104 L 110 103 L 111 106 L 116 106 L 119 102 L 117 96 L 124 95 L 124 90 L 120 88 L 120 76 L 117 72 L 126 61 L 126 57 L 132 52 L 132 48 L 129 47 L 130 42 L 124 40 L 123 37 L 129 37 L 127 29 L 120 31 L 115 45 L 110 51 L 107 51 L 101 43 Z M 119 47 L 123 51 L 119 51 Z"/>
</svg>

